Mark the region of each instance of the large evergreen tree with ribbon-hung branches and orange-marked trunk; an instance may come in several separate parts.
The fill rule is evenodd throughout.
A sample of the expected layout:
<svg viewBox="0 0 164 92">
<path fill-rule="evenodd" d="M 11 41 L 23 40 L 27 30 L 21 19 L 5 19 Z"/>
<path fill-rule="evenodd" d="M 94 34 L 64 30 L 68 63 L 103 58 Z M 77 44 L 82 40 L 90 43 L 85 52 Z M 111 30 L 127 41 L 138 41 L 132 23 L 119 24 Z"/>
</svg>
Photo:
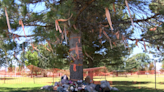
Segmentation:
<svg viewBox="0 0 164 92">
<path fill-rule="evenodd" d="M 34 43 L 47 40 L 54 46 L 67 45 L 70 48 L 69 60 L 73 61 L 70 64 L 70 78 L 83 79 L 83 51 L 90 46 L 90 40 L 93 40 L 94 46 L 106 48 L 107 55 L 115 56 L 114 59 L 120 58 L 116 56 L 132 47 L 128 45 L 128 39 L 136 41 L 136 45 L 138 42 L 143 43 L 145 49 L 145 42 L 159 45 L 162 49 L 162 3 L 163 0 L 1 0 L 3 13 L 0 14 L 0 31 L 6 38 L 5 33 L 12 35 L 13 39 L 25 37 L 32 46 L 31 37 Z M 39 4 L 45 6 L 44 10 L 34 12 L 31 7 Z M 12 29 L 9 31 L 5 8 Z M 26 27 L 32 27 L 26 31 L 32 35 L 19 34 L 22 23 Z M 114 53 L 114 50 L 117 51 Z"/>
</svg>

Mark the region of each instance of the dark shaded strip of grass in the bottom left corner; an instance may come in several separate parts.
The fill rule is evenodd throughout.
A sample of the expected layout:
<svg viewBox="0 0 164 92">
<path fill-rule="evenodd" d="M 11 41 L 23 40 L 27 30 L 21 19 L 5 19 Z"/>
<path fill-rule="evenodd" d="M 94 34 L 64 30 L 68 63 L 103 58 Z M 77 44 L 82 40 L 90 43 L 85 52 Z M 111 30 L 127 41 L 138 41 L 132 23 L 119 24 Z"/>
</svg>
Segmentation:
<svg viewBox="0 0 164 92">
<path fill-rule="evenodd" d="M 0 87 L 0 92 L 54 92 L 41 90 L 41 87 L 23 87 L 23 88 L 10 88 L 10 87 Z"/>
</svg>

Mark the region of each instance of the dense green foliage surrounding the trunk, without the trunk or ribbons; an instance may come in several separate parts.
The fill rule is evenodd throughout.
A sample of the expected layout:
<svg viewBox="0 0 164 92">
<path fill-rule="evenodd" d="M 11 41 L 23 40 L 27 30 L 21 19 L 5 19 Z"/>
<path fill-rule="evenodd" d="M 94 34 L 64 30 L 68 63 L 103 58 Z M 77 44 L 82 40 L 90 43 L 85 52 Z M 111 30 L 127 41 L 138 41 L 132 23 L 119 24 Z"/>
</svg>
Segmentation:
<svg viewBox="0 0 164 92">
<path fill-rule="evenodd" d="M 158 2 L 151 2 L 151 0 L 128 0 L 135 25 L 135 27 L 132 27 L 124 0 L 1 0 L 0 35 L 3 38 L 1 43 L 7 45 L 1 46 L 1 49 L 5 49 L 8 53 L 13 50 L 18 55 L 22 53 L 24 48 L 27 51 L 22 55 L 21 62 L 24 63 L 25 58 L 28 59 L 27 61 L 32 59 L 27 58 L 27 55 L 34 49 L 31 46 L 31 43 L 33 43 L 39 51 L 36 51 L 37 55 L 35 55 L 37 60 L 33 59 L 32 61 L 39 61 L 37 63 L 38 66 L 62 68 L 65 65 L 69 65 L 70 61 L 65 60 L 69 53 L 69 41 L 66 43 L 65 39 L 63 39 L 62 34 L 64 34 L 64 31 L 60 33 L 56 30 L 55 20 L 70 18 L 66 22 L 59 22 L 59 25 L 62 30 L 64 27 L 66 28 L 68 38 L 71 32 L 81 33 L 84 67 L 103 66 L 104 64 L 106 66 L 114 65 L 115 67 L 124 63 L 122 57 L 129 55 L 130 49 L 134 47 L 133 44 L 129 43 L 128 45 L 128 40 L 135 41 L 138 39 L 143 45 L 144 42 L 149 42 L 151 44 L 150 47 L 158 46 L 162 52 L 163 2 L 163 0 L 158 0 Z M 42 9 L 35 10 L 39 6 Z M 9 32 L 7 31 L 5 8 L 7 9 L 12 28 Z M 108 8 L 110 11 L 114 28 L 113 32 L 110 27 L 106 27 L 108 22 L 104 8 Z M 20 19 L 25 27 L 30 27 L 29 30 L 26 30 L 27 38 L 23 34 L 21 25 L 19 25 Z M 158 26 L 159 24 L 161 25 Z M 149 31 L 154 26 L 157 26 L 157 30 Z M 107 33 L 112 43 L 114 42 L 116 46 L 112 44 L 112 48 L 103 33 L 99 37 L 100 29 Z M 118 31 L 119 39 L 115 35 Z M 6 35 L 7 32 L 8 34 Z M 16 38 L 16 34 L 20 41 Z M 122 40 L 122 35 L 126 38 L 124 41 Z M 13 40 L 13 37 L 15 37 L 15 40 Z M 46 40 L 49 41 L 53 51 L 48 52 L 43 46 L 39 45 L 40 43 L 45 44 Z M 22 47 L 22 44 L 24 44 L 24 47 Z M 48 45 L 46 47 L 51 48 Z M 2 55 L 3 53 L 4 51 L 1 52 Z M 11 54 L 13 55 L 14 53 L 12 52 Z M 30 52 L 30 55 L 33 54 Z M 4 60 L 4 58 L 2 59 Z M 139 60 L 139 62 L 142 61 L 142 59 Z"/>
</svg>

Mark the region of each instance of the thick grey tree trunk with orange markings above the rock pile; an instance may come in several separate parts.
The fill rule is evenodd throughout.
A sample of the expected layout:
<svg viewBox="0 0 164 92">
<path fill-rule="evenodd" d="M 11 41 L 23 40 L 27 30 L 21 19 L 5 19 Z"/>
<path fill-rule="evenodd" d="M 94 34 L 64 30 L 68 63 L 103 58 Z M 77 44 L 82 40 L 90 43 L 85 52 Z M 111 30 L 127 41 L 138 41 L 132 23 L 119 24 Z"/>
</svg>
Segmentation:
<svg viewBox="0 0 164 92">
<path fill-rule="evenodd" d="M 70 33 L 69 46 L 70 55 L 73 60 L 73 63 L 70 64 L 70 79 L 74 81 L 83 80 L 83 54 L 80 33 Z M 75 50 L 77 46 L 79 58 L 77 50 Z"/>
</svg>

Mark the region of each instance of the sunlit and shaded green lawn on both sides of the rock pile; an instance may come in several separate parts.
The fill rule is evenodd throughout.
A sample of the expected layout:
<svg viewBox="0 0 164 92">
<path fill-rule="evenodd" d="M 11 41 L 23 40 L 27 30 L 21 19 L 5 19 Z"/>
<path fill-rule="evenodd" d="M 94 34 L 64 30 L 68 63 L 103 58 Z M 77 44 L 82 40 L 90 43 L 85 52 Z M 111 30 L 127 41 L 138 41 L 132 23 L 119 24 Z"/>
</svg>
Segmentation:
<svg viewBox="0 0 164 92">
<path fill-rule="evenodd" d="M 52 85 L 53 78 L 6 78 L 0 80 L 0 92 L 44 92 L 40 87 L 44 85 Z M 34 81 L 35 80 L 35 81 Z M 105 77 L 94 77 L 94 82 L 105 80 Z M 111 86 L 117 87 L 119 92 L 164 92 L 164 75 L 157 75 L 155 91 L 155 77 L 154 75 L 140 75 L 128 77 L 106 77 Z M 60 81 L 60 78 L 54 78 L 54 82 Z"/>
</svg>

